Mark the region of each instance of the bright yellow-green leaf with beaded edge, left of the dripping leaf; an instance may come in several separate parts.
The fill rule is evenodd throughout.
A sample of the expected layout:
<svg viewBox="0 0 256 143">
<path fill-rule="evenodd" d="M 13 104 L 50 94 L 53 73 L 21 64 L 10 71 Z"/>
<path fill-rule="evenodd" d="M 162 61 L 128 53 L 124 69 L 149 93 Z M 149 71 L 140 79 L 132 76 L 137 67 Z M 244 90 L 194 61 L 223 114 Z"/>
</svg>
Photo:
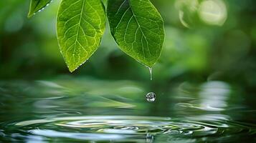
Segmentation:
<svg viewBox="0 0 256 143">
<path fill-rule="evenodd" d="M 100 0 L 62 0 L 57 14 L 57 39 L 71 72 L 98 49 L 105 21 Z"/>
</svg>

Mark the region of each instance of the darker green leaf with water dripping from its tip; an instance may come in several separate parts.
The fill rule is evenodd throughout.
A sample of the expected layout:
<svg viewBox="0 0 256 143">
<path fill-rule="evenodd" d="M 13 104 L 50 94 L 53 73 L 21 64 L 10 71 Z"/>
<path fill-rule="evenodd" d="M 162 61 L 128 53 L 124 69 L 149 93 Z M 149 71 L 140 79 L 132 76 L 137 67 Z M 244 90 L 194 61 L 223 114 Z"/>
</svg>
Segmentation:
<svg viewBox="0 0 256 143">
<path fill-rule="evenodd" d="M 110 31 L 120 49 L 153 66 L 163 46 L 163 19 L 149 0 L 109 0 Z"/>
</svg>

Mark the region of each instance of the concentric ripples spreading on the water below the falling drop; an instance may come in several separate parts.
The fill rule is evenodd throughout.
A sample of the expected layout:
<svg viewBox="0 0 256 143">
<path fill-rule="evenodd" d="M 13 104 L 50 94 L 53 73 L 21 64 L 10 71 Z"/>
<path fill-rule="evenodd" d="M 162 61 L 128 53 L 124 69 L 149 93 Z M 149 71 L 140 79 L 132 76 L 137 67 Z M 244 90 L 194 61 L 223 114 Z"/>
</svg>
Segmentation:
<svg viewBox="0 0 256 143">
<path fill-rule="evenodd" d="M 255 130 L 222 121 L 181 121 L 169 117 L 85 116 L 37 119 L 18 122 L 15 127 L 44 138 L 115 142 L 171 142 L 182 138 L 198 142 L 223 134 L 255 134 Z M 201 138 L 200 138 L 201 137 Z M 201 140 L 203 141 L 203 140 Z"/>
</svg>

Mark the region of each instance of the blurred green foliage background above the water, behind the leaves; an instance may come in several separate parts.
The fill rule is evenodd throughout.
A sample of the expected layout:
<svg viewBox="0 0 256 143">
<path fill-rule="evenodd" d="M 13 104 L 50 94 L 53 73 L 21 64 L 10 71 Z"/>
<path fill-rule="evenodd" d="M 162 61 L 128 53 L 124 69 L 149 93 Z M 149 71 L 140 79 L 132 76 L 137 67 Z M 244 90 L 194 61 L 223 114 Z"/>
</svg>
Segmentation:
<svg viewBox="0 0 256 143">
<path fill-rule="evenodd" d="M 224 80 L 256 85 L 256 1 L 151 0 L 166 39 L 154 82 Z M 27 19 L 29 0 L 0 1 L 0 79 L 59 75 L 149 82 L 148 69 L 125 55 L 106 29 L 98 51 L 70 74 L 55 32 L 59 0 Z"/>
</svg>

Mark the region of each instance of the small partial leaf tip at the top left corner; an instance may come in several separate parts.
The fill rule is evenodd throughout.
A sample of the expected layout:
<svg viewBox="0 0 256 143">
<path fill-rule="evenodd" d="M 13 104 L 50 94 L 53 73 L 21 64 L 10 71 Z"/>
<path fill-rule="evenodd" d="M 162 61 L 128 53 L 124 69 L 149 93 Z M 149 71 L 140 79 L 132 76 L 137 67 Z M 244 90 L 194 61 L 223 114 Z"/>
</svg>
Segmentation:
<svg viewBox="0 0 256 143">
<path fill-rule="evenodd" d="M 28 17 L 33 16 L 37 11 L 44 9 L 52 0 L 31 0 Z"/>
</svg>

